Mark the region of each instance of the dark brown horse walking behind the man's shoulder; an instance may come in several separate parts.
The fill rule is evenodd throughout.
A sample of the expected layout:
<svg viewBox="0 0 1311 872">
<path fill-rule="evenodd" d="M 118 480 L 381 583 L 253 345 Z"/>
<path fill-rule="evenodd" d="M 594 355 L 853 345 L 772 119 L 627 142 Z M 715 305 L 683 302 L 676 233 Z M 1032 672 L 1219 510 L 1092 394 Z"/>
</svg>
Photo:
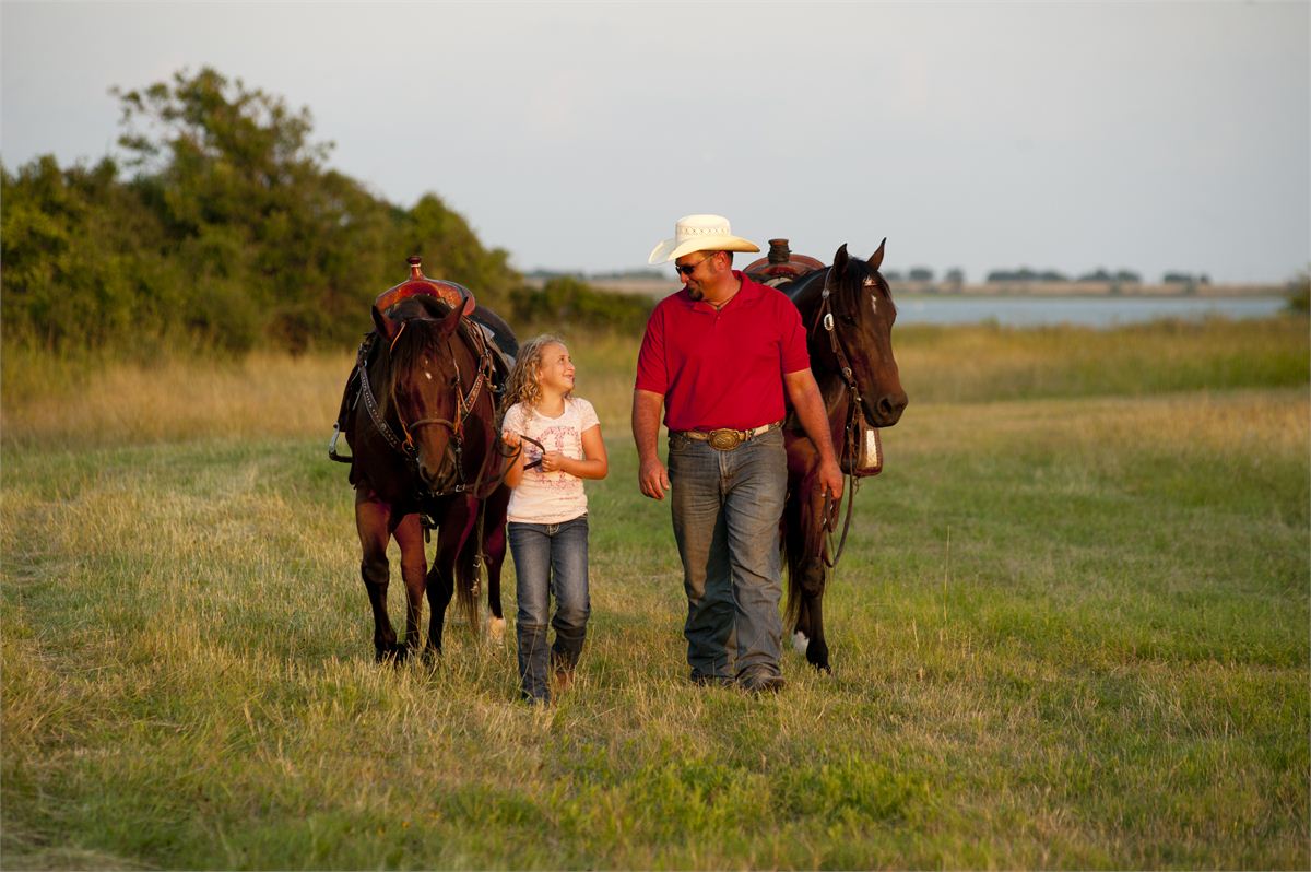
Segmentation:
<svg viewBox="0 0 1311 872">
<path fill-rule="evenodd" d="M 888 240 L 884 240 L 886 243 Z M 897 320 L 888 282 L 878 273 L 884 245 L 868 261 L 838 249 L 832 266 L 806 273 L 777 285 L 806 327 L 810 368 L 823 395 L 840 454 L 852 441 L 848 427 L 859 426 L 852 416 L 873 427 L 890 427 L 906 408 L 891 329 Z M 836 506 L 827 505 L 817 489 L 819 455 L 796 414 L 784 427 L 788 448 L 788 498 L 783 510 L 783 549 L 788 564 L 787 627 L 798 650 L 818 669 L 829 670 L 829 643 L 823 627 L 823 593 L 836 559 L 829 534 L 834 531 Z M 851 458 L 843 458 L 847 471 Z M 847 479 L 846 500 L 855 497 L 853 477 Z M 850 506 L 848 506 L 850 507 Z"/>
</svg>

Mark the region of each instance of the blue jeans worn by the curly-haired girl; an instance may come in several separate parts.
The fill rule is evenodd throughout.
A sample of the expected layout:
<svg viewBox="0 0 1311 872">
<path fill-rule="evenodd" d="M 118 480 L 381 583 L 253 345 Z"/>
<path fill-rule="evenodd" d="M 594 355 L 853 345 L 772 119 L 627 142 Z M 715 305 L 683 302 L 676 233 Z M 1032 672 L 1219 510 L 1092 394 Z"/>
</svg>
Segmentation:
<svg viewBox="0 0 1311 872">
<path fill-rule="evenodd" d="M 573 671 L 587 636 L 591 601 L 587 597 L 587 515 L 560 523 L 506 525 L 514 556 L 519 599 L 515 636 L 519 641 L 519 684 L 523 698 L 551 702 L 551 675 Z M 556 641 L 547 649 L 551 597 Z"/>
</svg>

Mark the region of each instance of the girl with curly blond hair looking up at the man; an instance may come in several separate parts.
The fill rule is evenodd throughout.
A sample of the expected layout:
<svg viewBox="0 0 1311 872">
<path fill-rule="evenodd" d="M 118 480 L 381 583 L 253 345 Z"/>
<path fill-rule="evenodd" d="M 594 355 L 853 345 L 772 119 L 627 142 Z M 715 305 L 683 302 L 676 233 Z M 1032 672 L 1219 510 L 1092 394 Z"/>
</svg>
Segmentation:
<svg viewBox="0 0 1311 872">
<path fill-rule="evenodd" d="M 501 438 L 517 450 L 505 483 L 513 489 L 506 530 L 519 599 L 519 682 L 524 699 L 549 703 L 548 670 L 561 690 L 573 682 L 591 612 L 582 480 L 604 479 L 608 463 L 597 412 L 573 396 L 574 366 L 564 342 L 555 336 L 526 342 L 507 387 L 513 405 Z M 556 640 L 548 654 L 552 594 Z"/>
</svg>

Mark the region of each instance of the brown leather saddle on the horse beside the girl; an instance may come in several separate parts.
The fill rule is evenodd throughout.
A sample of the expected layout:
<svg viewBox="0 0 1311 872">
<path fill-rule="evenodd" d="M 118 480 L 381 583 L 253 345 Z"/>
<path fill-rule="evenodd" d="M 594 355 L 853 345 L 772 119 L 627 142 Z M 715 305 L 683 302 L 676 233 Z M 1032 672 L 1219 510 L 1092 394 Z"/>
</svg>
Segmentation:
<svg viewBox="0 0 1311 872">
<path fill-rule="evenodd" d="M 391 324 L 395 307 L 413 296 L 437 298 L 451 308 L 459 308 L 468 300 L 473 299 L 473 294 L 471 294 L 463 285 L 431 279 L 423 275 L 423 261 L 418 256 L 408 258 L 406 262 L 410 266 L 409 279 L 387 288 L 374 300 L 372 309 L 376 316 L 375 323 Z M 481 319 L 480 315 L 482 316 Z M 481 344 L 485 345 L 492 353 L 492 391 L 497 396 L 503 395 L 505 384 L 510 378 L 510 370 L 514 368 L 514 358 L 519 350 L 514 341 L 514 336 L 510 334 L 505 323 L 499 321 L 499 319 L 482 307 L 473 309 L 471 315 L 461 316 L 460 327 L 464 330 L 476 330 L 477 337 L 469 338 L 475 344 L 480 344 L 481 341 Z M 498 328 L 503 328 L 503 334 L 498 330 Z M 337 454 L 337 439 L 342 431 L 346 430 L 350 422 L 350 416 L 359 404 L 362 393 L 361 378 L 364 372 L 364 365 L 368 355 L 372 351 L 374 345 L 378 342 L 378 338 L 379 333 L 376 328 L 364 334 L 364 340 L 359 344 L 359 350 L 355 355 L 355 366 L 351 367 L 350 375 L 346 376 L 346 386 L 342 389 L 341 396 L 341 406 L 337 410 L 337 421 L 333 424 L 332 439 L 328 443 L 328 458 L 338 463 L 351 463 L 354 460 L 351 456 Z M 499 401 L 497 405 L 499 405 Z M 354 469 L 351 469 L 351 484 L 354 484 Z"/>
</svg>

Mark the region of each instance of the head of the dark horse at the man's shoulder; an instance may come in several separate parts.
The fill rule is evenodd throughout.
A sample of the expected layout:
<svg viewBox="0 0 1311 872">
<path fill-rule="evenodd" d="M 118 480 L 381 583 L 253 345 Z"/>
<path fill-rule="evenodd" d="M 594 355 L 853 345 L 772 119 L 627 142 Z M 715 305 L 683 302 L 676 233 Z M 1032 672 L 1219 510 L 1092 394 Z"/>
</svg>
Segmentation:
<svg viewBox="0 0 1311 872">
<path fill-rule="evenodd" d="M 878 271 L 886 243 L 886 239 L 880 243 L 868 261 L 848 257 L 843 244 L 832 256 L 832 268 L 826 278 L 834 336 L 860 388 L 865 420 L 877 427 L 897 424 L 907 401 L 897 358 L 893 357 L 897 307 L 886 279 Z"/>
</svg>

